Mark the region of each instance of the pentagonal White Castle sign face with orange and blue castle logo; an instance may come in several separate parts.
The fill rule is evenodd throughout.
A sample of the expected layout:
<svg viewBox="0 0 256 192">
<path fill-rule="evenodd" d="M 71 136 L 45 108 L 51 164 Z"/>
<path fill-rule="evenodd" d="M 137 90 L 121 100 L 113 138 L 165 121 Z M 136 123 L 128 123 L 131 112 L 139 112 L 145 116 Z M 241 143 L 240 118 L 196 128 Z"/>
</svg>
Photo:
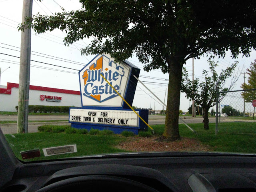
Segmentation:
<svg viewBox="0 0 256 192">
<path fill-rule="evenodd" d="M 107 54 L 96 56 L 79 72 L 82 107 L 121 107 L 123 104 L 122 98 L 118 96 L 104 78 L 124 97 L 130 70 L 130 66 L 115 63 L 114 59 Z"/>
</svg>

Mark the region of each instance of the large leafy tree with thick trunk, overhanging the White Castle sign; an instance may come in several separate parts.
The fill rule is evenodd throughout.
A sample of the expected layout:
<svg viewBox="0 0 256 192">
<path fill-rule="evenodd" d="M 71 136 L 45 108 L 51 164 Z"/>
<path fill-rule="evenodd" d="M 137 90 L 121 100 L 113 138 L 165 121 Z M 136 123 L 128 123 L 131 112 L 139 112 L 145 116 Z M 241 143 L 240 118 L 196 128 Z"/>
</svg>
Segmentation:
<svg viewBox="0 0 256 192">
<path fill-rule="evenodd" d="M 163 138 L 180 138 L 178 112 L 182 67 L 190 58 L 213 53 L 249 56 L 256 42 L 256 1 L 233 0 L 80 0 L 82 9 L 40 14 L 20 25 L 38 34 L 67 32 L 64 44 L 93 37 L 82 54 L 108 53 L 122 61 L 136 54 L 144 70 L 169 73 Z"/>
</svg>

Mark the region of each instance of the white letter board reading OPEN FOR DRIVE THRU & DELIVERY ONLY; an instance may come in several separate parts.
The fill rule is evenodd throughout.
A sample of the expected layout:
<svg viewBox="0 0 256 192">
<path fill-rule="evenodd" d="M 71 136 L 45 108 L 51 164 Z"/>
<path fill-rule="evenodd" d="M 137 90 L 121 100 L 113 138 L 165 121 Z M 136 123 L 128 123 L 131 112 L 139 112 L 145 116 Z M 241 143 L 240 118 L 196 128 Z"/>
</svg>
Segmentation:
<svg viewBox="0 0 256 192">
<path fill-rule="evenodd" d="M 139 111 L 136 111 L 139 114 Z M 138 116 L 127 110 L 70 109 L 69 121 L 108 125 L 136 126 Z"/>
</svg>

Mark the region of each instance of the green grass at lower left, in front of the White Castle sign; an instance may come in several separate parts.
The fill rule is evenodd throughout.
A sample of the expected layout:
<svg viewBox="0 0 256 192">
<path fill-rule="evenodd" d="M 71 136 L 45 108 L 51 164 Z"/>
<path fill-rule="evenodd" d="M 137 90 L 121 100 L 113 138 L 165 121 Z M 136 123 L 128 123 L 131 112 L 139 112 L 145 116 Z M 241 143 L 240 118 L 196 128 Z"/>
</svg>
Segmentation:
<svg viewBox="0 0 256 192">
<path fill-rule="evenodd" d="M 20 155 L 21 151 L 32 150 L 36 148 L 40 149 L 41 156 L 31 159 L 33 161 L 68 158 L 72 156 L 84 156 L 90 154 L 125 152 L 124 150 L 114 148 L 114 146 L 116 146 L 119 142 L 126 139 L 117 135 L 65 134 L 47 132 L 13 135 L 15 136 L 15 138 L 12 137 L 10 134 L 7 134 L 5 136 L 14 154 L 20 160 L 22 160 L 22 157 Z M 69 144 L 76 144 L 76 153 L 44 157 L 42 148 Z M 25 161 L 31 160 L 28 159 Z"/>
</svg>

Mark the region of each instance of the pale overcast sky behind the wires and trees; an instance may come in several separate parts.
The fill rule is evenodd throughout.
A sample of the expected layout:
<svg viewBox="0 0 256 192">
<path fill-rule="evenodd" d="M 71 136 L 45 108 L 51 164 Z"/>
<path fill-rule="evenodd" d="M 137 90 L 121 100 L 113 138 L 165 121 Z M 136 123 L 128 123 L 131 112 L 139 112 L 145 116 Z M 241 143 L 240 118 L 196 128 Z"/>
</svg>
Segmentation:
<svg viewBox="0 0 256 192">
<path fill-rule="evenodd" d="M 3 86 L 6 86 L 7 82 L 19 82 L 20 59 L 17 57 L 20 57 L 19 48 L 21 33 L 18 31 L 17 26 L 22 20 L 22 3 L 22 0 L 0 0 L 0 67 L 3 72 L 10 66 L 10 68 L 1 74 L 0 84 Z M 42 2 L 33 0 L 33 14 L 40 12 L 42 15 L 47 14 L 50 16 L 55 12 L 63 12 L 60 6 L 66 11 L 78 10 L 81 7 L 78 0 L 55 0 L 55 2 L 54 0 L 43 0 Z M 40 35 L 35 35 L 35 32 L 32 31 L 31 60 L 34 61 L 31 61 L 30 85 L 79 90 L 77 70 L 82 69 L 85 64 L 94 58 L 94 55 L 81 56 L 80 49 L 88 45 L 90 40 L 84 39 L 67 47 L 64 46 L 62 42 L 64 37 L 65 33 L 60 30 L 46 32 L 46 34 Z M 8 54 L 10 56 L 4 54 Z M 230 66 L 232 62 L 237 60 L 239 62 L 238 67 L 242 70 L 242 67 L 244 66 L 242 72 L 245 72 L 245 69 L 250 66 L 250 63 L 253 62 L 255 58 L 255 51 L 251 52 L 251 56 L 249 58 L 242 57 L 241 55 L 237 59 L 232 59 L 230 54 L 227 53 L 224 59 L 215 59 L 215 61 L 219 62 L 217 71 L 220 72 L 220 70 L 225 69 L 227 66 Z M 152 83 L 145 84 L 156 94 L 156 96 L 164 100 L 164 94 L 166 88 L 168 88 L 168 74 L 163 74 L 160 70 L 145 72 L 143 70 L 143 64 L 138 62 L 136 56 L 129 58 L 128 61 L 141 69 L 140 75 L 150 76 L 152 78 L 163 78 L 163 80 L 142 77 L 139 79 L 142 81 L 161 83 L 155 85 Z M 76 70 L 55 67 L 49 64 L 64 66 Z M 189 74 L 192 75 L 192 59 L 188 60 L 184 66 L 187 68 Z M 194 60 L 195 78 L 204 80 L 202 77 L 202 70 L 208 70 L 208 67 L 206 57 L 202 57 L 200 60 Z M 192 76 L 190 77 L 192 78 Z M 240 85 L 243 82 L 244 78 L 243 75 L 241 75 L 233 90 L 241 89 Z M 145 90 L 145 88 L 141 84 L 138 84 L 133 105 L 142 108 L 150 108 L 151 94 L 146 94 L 149 92 L 146 91 L 145 93 L 142 90 Z M 187 111 L 190 104 L 191 102 L 185 98 L 185 94 L 181 94 L 180 109 Z M 162 105 L 158 104 L 158 102 L 153 99 L 153 96 L 151 107 L 156 110 L 162 110 L 163 108 Z"/>
</svg>

